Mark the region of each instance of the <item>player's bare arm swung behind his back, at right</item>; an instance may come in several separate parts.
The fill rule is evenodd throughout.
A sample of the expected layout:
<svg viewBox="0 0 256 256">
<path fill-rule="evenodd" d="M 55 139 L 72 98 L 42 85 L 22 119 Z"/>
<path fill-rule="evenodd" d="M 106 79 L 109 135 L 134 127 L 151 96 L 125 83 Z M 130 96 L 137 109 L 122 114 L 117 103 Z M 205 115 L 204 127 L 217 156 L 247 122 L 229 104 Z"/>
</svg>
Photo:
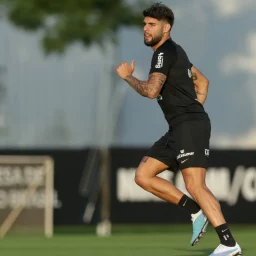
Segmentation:
<svg viewBox="0 0 256 256">
<path fill-rule="evenodd" d="M 207 98 L 209 80 L 195 66 L 192 66 L 191 71 L 197 99 L 201 104 L 204 104 Z"/>
</svg>

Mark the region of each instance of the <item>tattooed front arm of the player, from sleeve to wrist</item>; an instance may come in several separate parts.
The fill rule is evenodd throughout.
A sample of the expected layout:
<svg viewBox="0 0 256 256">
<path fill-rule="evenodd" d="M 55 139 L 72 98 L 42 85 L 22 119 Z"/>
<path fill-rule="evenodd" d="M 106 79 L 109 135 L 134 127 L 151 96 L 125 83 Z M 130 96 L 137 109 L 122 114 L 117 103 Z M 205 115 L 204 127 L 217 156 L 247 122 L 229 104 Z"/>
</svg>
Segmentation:
<svg viewBox="0 0 256 256">
<path fill-rule="evenodd" d="M 160 93 L 165 81 L 166 75 L 162 73 L 152 73 L 149 75 L 148 81 L 140 81 L 136 77 L 130 75 L 124 79 L 137 93 L 144 97 L 157 97 Z"/>
</svg>

